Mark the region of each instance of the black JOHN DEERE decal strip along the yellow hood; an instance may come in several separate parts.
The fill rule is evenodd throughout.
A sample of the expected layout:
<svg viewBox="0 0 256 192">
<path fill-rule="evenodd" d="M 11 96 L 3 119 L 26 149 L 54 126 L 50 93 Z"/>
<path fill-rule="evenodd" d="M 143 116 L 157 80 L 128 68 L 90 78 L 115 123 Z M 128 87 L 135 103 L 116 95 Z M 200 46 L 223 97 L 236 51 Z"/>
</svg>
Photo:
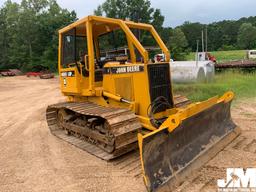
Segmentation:
<svg viewBox="0 0 256 192">
<path fill-rule="evenodd" d="M 110 67 L 105 68 L 105 74 L 121 74 L 121 73 L 135 73 L 144 71 L 144 66 L 124 66 L 124 67 Z"/>
</svg>

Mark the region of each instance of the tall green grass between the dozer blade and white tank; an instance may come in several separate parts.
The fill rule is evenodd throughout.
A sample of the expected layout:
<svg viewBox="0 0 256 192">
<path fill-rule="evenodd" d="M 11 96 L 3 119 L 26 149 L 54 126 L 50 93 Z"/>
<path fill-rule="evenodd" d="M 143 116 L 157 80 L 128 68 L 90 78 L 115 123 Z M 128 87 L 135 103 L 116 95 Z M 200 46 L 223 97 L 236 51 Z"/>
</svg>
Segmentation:
<svg viewBox="0 0 256 192">
<path fill-rule="evenodd" d="M 218 73 L 212 83 L 174 84 L 174 94 L 187 96 L 192 101 L 203 101 L 233 91 L 235 99 L 256 97 L 256 73 L 226 71 Z"/>
</svg>

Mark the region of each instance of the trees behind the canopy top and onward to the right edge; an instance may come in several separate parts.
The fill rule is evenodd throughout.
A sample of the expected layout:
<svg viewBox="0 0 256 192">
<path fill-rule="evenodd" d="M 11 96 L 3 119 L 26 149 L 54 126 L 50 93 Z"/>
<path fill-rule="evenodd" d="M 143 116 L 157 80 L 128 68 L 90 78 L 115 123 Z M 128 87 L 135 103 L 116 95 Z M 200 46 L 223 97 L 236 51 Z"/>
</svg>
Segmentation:
<svg viewBox="0 0 256 192">
<path fill-rule="evenodd" d="M 161 10 L 151 7 L 149 0 L 106 0 L 94 14 L 151 23 L 170 49 L 172 58 L 177 60 L 184 59 L 188 52 L 196 51 L 197 41 L 201 41 L 202 31 L 206 29 L 208 51 L 256 48 L 256 17 L 210 24 L 186 21 L 175 28 L 163 27 L 165 17 Z M 201 43 L 199 50 L 200 46 Z"/>
</svg>

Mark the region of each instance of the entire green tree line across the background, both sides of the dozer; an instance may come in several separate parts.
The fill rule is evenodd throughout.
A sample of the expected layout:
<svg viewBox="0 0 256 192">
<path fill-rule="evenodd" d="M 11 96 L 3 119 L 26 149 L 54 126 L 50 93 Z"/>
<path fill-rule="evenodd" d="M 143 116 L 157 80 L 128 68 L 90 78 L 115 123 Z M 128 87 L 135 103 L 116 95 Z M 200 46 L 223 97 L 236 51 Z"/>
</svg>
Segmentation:
<svg viewBox="0 0 256 192">
<path fill-rule="evenodd" d="M 256 17 L 164 27 L 165 17 L 149 0 L 106 0 L 94 14 L 152 24 L 174 59 L 184 59 L 188 52 L 195 51 L 201 31 L 206 28 L 209 51 L 256 48 Z M 43 65 L 57 70 L 58 30 L 76 20 L 75 11 L 61 8 L 56 0 L 7 0 L 0 8 L 0 69 L 28 71 Z M 143 45 L 153 45 L 149 34 L 134 33 Z"/>
</svg>

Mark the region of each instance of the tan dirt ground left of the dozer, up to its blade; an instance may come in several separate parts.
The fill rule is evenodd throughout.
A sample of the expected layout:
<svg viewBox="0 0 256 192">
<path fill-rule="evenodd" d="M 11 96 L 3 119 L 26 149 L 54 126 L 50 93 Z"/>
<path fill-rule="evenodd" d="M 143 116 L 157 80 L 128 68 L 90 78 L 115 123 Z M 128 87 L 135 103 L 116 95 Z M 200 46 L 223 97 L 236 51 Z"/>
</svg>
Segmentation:
<svg viewBox="0 0 256 192">
<path fill-rule="evenodd" d="M 47 105 L 58 80 L 0 79 L 0 191 L 144 191 L 142 178 L 52 136 Z"/>
</svg>

